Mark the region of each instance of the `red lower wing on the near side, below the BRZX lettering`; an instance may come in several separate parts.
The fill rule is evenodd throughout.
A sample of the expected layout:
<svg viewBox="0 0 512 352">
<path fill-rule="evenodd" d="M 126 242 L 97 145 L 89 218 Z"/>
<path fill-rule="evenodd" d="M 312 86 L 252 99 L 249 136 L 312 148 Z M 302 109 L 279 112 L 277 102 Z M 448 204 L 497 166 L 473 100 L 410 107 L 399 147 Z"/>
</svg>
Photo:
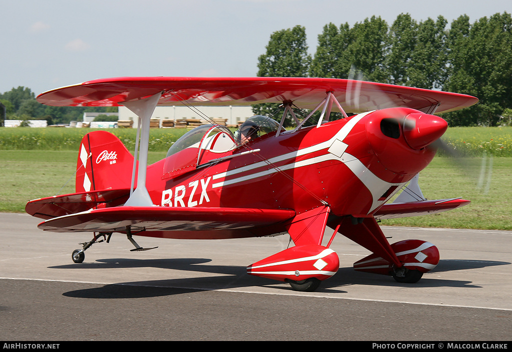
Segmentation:
<svg viewBox="0 0 512 352">
<path fill-rule="evenodd" d="M 123 206 L 56 217 L 38 228 L 52 232 L 123 232 L 126 226 L 132 232 L 243 230 L 275 225 L 294 216 L 289 209 Z"/>
</svg>

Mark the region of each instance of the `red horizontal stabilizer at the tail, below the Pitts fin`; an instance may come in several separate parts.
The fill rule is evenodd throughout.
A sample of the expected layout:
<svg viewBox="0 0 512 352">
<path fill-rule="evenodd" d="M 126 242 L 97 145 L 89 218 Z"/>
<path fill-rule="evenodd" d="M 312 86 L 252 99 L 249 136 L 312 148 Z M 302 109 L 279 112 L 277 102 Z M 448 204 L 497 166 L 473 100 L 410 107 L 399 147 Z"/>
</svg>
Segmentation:
<svg viewBox="0 0 512 352">
<path fill-rule="evenodd" d="M 105 204 L 107 207 L 122 205 L 129 196 L 130 189 L 104 189 L 54 195 L 28 202 L 25 211 L 35 217 L 51 219 L 86 211 L 100 204 Z"/>
</svg>

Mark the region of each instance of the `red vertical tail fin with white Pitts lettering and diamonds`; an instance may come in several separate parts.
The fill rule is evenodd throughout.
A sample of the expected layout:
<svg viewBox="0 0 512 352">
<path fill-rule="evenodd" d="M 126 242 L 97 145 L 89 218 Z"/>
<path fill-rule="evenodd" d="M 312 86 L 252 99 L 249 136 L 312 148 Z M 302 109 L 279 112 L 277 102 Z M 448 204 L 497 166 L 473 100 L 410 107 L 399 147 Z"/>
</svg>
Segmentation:
<svg viewBox="0 0 512 352">
<path fill-rule="evenodd" d="M 76 192 L 130 188 L 133 155 L 107 131 L 83 136 L 76 164 Z"/>
</svg>

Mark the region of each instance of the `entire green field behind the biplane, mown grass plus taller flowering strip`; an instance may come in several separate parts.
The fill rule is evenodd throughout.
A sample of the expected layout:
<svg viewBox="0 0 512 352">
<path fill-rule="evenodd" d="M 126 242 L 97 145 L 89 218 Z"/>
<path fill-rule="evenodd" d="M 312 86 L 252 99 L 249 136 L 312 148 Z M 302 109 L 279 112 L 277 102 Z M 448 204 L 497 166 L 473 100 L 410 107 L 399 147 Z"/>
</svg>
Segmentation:
<svg viewBox="0 0 512 352">
<path fill-rule="evenodd" d="M 79 143 L 89 128 L 0 128 L 0 211 L 24 211 L 39 197 L 74 192 Z M 129 150 L 136 130 L 110 129 Z M 165 152 L 186 129 L 152 129 L 149 162 Z M 428 199 L 462 196 L 468 206 L 435 215 L 390 219 L 382 225 L 512 230 L 512 127 L 451 127 L 443 137 L 464 158 L 436 157 L 420 173 L 420 187 Z M 479 186 L 482 156 L 493 160 L 490 183 Z M 484 169 L 484 175 L 489 171 Z"/>
</svg>

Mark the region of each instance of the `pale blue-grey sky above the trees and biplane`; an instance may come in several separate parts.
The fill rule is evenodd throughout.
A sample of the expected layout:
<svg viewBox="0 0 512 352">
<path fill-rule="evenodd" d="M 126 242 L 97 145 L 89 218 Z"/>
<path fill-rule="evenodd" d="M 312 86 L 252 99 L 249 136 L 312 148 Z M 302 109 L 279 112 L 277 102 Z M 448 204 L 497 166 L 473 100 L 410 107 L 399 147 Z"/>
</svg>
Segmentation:
<svg viewBox="0 0 512 352">
<path fill-rule="evenodd" d="M 391 26 L 512 13 L 510 0 L 0 0 L 0 93 L 38 94 L 97 78 L 253 77 L 275 31 L 306 28 L 309 52 L 328 23 L 371 16 Z"/>
</svg>

